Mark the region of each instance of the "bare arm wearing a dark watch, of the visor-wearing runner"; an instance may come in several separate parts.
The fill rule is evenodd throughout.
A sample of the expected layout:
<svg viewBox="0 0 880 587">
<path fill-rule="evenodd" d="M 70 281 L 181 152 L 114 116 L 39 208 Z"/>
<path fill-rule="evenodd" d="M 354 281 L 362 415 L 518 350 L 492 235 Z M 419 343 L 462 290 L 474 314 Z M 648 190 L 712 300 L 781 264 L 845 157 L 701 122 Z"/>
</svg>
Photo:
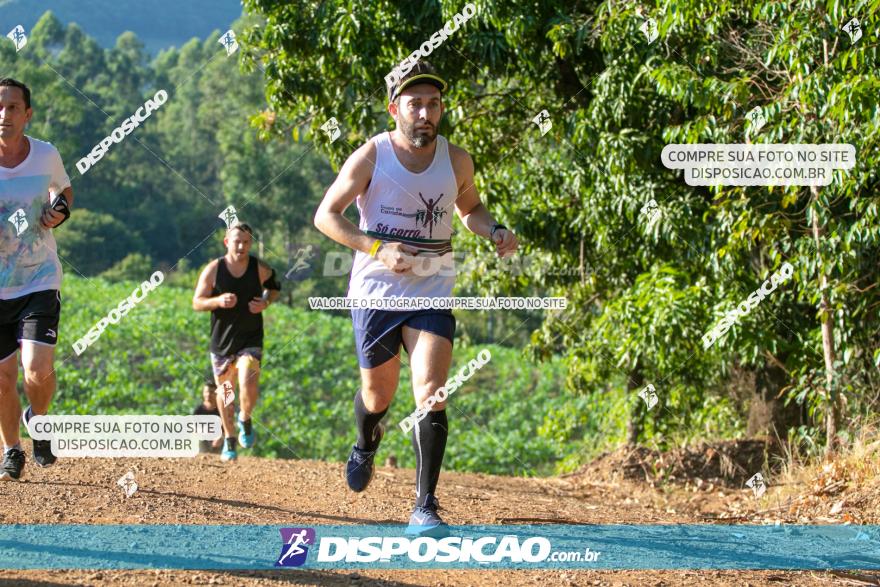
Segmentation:
<svg viewBox="0 0 880 587">
<path fill-rule="evenodd" d="M 492 238 L 499 256 L 503 257 L 514 252 L 517 247 L 517 239 L 513 231 L 499 229 L 495 231 L 494 237 L 492 236 L 492 226 L 498 223 L 480 201 L 477 186 L 474 184 L 474 160 L 470 154 L 455 145 L 449 145 L 449 155 L 452 158 L 452 169 L 455 171 L 455 179 L 458 182 L 455 210 L 462 223 L 477 236 Z"/>
</svg>

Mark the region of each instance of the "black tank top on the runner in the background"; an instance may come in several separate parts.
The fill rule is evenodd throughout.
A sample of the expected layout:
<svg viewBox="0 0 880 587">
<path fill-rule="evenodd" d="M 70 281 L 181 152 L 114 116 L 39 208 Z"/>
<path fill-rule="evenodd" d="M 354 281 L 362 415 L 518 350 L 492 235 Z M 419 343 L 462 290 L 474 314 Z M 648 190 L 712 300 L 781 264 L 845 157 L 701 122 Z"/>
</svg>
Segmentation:
<svg viewBox="0 0 880 587">
<path fill-rule="evenodd" d="M 248 347 L 263 346 L 263 314 L 252 314 L 248 303 L 263 295 L 257 258 L 248 255 L 248 268 L 241 277 L 233 277 L 220 257 L 217 262 L 217 279 L 211 296 L 234 293 L 236 304 L 232 308 L 211 311 L 211 352 L 215 355 L 232 355 Z"/>
</svg>

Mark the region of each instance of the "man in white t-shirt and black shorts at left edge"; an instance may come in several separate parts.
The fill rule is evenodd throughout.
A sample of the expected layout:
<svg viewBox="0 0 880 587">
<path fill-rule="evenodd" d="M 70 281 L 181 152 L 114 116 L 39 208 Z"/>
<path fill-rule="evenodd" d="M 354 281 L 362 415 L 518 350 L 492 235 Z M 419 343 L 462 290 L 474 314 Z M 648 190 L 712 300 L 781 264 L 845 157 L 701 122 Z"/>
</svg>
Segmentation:
<svg viewBox="0 0 880 587">
<path fill-rule="evenodd" d="M 73 205 L 58 151 L 24 134 L 32 115 L 28 87 L 0 79 L 0 481 L 24 474 L 19 418 L 27 425 L 45 415 L 55 393 L 61 264 L 52 229 Z M 16 391 L 19 349 L 30 401 L 24 414 Z M 41 467 L 55 462 L 50 441 L 33 441 L 33 459 Z"/>
</svg>

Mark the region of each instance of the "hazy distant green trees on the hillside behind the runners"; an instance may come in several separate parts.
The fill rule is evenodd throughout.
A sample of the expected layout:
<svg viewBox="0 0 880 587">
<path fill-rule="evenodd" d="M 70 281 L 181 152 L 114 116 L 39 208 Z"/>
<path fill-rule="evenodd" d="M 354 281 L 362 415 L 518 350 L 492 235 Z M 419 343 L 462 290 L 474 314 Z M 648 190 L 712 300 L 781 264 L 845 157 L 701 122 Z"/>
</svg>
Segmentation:
<svg viewBox="0 0 880 587">
<path fill-rule="evenodd" d="M 91 275 L 92 268 L 103 271 L 146 251 L 164 267 L 181 260 L 201 266 L 220 250 L 212 237 L 229 204 L 259 229 L 262 254 L 282 273 L 288 243 L 318 240 L 310 213 L 330 168 L 311 144 L 292 137 L 268 142 L 250 125 L 254 112 L 266 111 L 265 82 L 260 72 L 242 72 L 240 54 L 227 57 L 218 37 L 215 31 L 151 61 L 133 33 L 103 49 L 77 25 L 64 26 L 46 12 L 25 51 L 0 44 L 4 71 L 32 89 L 27 132 L 59 149 L 75 208 L 122 222 L 138 243 L 125 250 L 130 241 L 120 241 L 105 261 L 91 258 L 88 247 L 71 247 L 65 251 L 71 266 Z M 159 90 L 168 101 L 82 174 L 77 161 Z M 68 224 L 59 233 L 92 242 L 94 228 Z"/>
</svg>

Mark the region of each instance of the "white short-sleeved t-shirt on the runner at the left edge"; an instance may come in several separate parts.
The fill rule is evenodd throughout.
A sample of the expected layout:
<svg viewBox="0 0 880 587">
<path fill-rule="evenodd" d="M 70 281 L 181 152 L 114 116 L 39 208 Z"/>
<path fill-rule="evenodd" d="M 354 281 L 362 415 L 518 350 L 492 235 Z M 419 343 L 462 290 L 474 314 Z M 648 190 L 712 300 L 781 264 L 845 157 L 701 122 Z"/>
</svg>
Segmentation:
<svg viewBox="0 0 880 587">
<path fill-rule="evenodd" d="M 69 187 L 70 178 L 55 147 L 27 140 L 31 150 L 24 161 L 0 166 L 0 300 L 61 288 L 55 237 L 40 217 L 43 204 Z"/>
</svg>

